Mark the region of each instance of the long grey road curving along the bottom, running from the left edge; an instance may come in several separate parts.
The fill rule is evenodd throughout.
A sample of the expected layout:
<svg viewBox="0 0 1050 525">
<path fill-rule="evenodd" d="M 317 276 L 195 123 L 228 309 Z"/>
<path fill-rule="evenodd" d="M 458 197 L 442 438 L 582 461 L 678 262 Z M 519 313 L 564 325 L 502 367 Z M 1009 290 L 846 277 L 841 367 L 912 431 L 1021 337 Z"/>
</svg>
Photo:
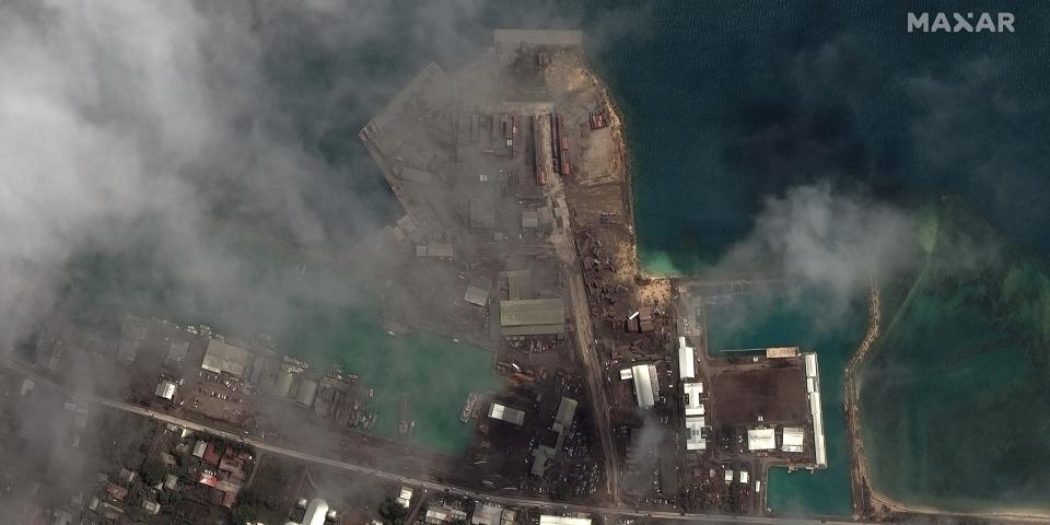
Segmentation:
<svg viewBox="0 0 1050 525">
<path fill-rule="evenodd" d="M 331 468 L 337 468 L 341 470 L 347 470 L 351 472 L 362 474 L 366 476 L 372 476 L 374 478 L 382 479 L 392 483 L 399 483 L 405 486 L 410 486 L 415 488 L 421 488 L 427 490 L 432 490 L 435 492 L 444 492 L 448 494 L 462 495 L 466 498 L 471 498 L 476 500 L 491 501 L 494 503 L 502 503 L 505 505 L 513 506 L 523 506 L 523 508 L 534 508 L 541 509 L 545 511 L 552 512 L 585 512 L 592 514 L 614 514 L 614 515 L 626 515 L 626 516 L 635 516 L 635 517 L 654 517 L 661 520 L 676 520 L 676 521 L 689 521 L 689 522 L 702 522 L 702 523 L 743 523 L 743 524 L 800 524 L 800 525 L 817 525 L 822 523 L 862 523 L 854 522 L 849 518 L 781 518 L 781 517 L 767 517 L 767 516 L 723 516 L 714 514 L 682 514 L 677 512 L 661 512 L 661 511 L 641 511 L 633 510 L 621 506 L 594 506 L 594 505 L 578 505 L 578 504 L 567 504 L 567 503 L 557 503 L 546 500 L 536 500 L 530 498 L 516 498 L 504 494 L 493 494 L 479 492 L 474 489 L 468 489 L 465 487 L 457 487 L 454 485 L 441 483 L 431 480 L 424 480 L 419 478 L 412 478 L 409 476 L 402 476 L 399 474 L 387 472 L 380 470 L 377 468 L 372 468 L 363 465 L 358 465 L 354 463 L 342 462 L 338 459 L 331 459 L 328 457 L 317 456 L 314 454 L 308 454 L 305 452 L 295 451 L 292 448 L 287 448 L 283 446 L 275 445 L 265 441 L 260 441 L 254 438 L 245 438 L 233 432 L 228 432 L 225 430 L 212 427 L 207 423 L 201 423 L 198 421 L 191 421 L 184 418 L 178 418 L 171 416 L 164 412 L 156 410 L 151 410 L 143 408 L 137 405 L 127 404 L 124 401 L 116 401 L 112 399 L 105 399 L 98 396 L 72 393 L 68 388 L 58 385 L 49 378 L 40 376 L 30 370 L 27 366 L 11 360 L 7 357 L 0 355 L 0 364 L 12 369 L 19 373 L 22 373 L 35 381 L 40 386 L 49 386 L 56 388 L 59 392 L 62 392 L 70 396 L 75 396 L 80 399 L 85 399 L 97 405 L 103 405 L 116 410 L 121 410 L 128 413 L 135 413 L 138 416 L 147 417 L 154 419 L 156 421 L 163 421 L 165 423 L 177 424 L 179 427 L 196 431 L 217 435 L 232 442 L 240 442 L 246 445 L 250 445 L 258 451 L 262 451 L 269 454 L 275 454 L 279 456 L 284 456 L 293 459 L 299 459 L 302 462 L 307 462 L 314 465 L 325 465 Z"/>
</svg>

